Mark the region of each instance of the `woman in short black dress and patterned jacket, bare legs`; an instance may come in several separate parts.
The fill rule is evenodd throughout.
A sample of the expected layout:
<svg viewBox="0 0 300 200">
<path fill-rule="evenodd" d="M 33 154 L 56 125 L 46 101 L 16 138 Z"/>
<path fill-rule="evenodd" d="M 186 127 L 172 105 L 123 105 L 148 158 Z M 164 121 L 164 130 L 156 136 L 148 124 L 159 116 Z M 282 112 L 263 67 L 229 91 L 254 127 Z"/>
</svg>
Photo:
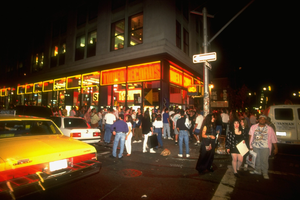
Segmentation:
<svg viewBox="0 0 300 200">
<path fill-rule="evenodd" d="M 237 170 L 240 169 L 243 162 L 243 157 L 237 149 L 237 144 L 242 141 L 245 143 L 246 139 L 246 134 L 242 129 L 240 121 L 237 118 L 233 119 L 226 136 L 225 146 L 227 153 L 230 153 L 232 156 L 232 168 L 236 177 L 239 177 Z"/>
</svg>

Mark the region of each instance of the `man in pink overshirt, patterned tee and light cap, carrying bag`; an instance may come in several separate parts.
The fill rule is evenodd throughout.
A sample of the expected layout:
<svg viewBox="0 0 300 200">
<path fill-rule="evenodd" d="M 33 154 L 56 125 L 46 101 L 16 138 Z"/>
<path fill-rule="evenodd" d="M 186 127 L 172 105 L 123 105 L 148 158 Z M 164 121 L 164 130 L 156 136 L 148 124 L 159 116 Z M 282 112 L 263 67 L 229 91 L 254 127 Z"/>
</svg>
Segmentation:
<svg viewBox="0 0 300 200">
<path fill-rule="evenodd" d="M 252 125 L 249 131 L 250 150 L 257 153 L 255 170 L 251 174 L 262 174 L 263 178 L 268 176 L 268 158 L 271 155 L 272 144 L 274 145 L 274 155 L 278 153 L 277 138 L 274 130 L 266 124 L 267 116 L 261 115 L 258 124 Z"/>
</svg>

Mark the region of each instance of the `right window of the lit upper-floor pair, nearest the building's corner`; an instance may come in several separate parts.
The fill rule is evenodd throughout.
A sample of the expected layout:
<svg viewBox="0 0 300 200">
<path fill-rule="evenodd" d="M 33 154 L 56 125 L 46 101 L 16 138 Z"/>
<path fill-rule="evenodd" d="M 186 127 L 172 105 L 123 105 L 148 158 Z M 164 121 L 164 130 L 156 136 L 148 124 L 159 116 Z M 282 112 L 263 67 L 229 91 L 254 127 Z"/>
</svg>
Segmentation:
<svg viewBox="0 0 300 200">
<path fill-rule="evenodd" d="M 143 43 L 143 13 L 128 19 L 128 47 Z"/>
</svg>

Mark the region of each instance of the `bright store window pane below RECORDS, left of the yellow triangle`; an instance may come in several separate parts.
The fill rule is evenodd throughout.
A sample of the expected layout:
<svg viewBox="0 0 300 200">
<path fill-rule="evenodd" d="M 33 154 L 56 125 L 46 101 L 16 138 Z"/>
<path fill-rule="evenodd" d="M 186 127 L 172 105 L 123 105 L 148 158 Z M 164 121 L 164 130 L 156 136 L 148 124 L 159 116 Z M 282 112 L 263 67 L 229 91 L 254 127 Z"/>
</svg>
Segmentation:
<svg viewBox="0 0 300 200">
<path fill-rule="evenodd" d="M 142 103 L 142 83 L 128 83 L 127 105 L 134 110 L 141 107 Z"/>
</svg>

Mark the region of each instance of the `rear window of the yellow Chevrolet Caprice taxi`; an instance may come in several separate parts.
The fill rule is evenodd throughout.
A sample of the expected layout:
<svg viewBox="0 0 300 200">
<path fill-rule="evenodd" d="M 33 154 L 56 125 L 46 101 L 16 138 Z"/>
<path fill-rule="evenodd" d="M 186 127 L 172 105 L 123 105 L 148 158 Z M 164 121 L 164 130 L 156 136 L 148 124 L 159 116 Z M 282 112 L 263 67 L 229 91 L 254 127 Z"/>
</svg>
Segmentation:
<svg viewBox="0 0 300 200">
<path fill-rule="evenodd" d="M 52 121 L 9 120 L 0 121 L 0 139 L 61 134 Z"/>
</svg>

